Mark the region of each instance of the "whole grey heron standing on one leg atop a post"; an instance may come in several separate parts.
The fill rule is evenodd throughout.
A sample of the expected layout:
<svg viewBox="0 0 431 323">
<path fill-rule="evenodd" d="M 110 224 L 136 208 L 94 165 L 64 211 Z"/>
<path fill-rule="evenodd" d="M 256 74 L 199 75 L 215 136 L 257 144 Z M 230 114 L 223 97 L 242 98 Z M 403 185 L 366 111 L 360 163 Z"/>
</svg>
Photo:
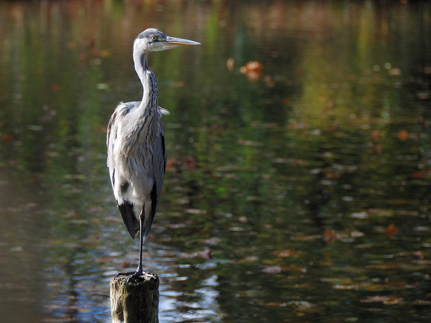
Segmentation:
<svg viewBox="0 0 431 323">
<path fill-rule="evenodd" d="M 142 246 L 148 237 L 166 170 L 166 147 L 162 115 L 157 106 L 158 88 L 154 73 L 148 68 L 148 54 L 181 45 L 200 45 L 195 41 L 169 37 L 150 28 L 133 43 L 133 61 L 144 87 L 142 101 L 120 102 L 108 124 L 108 168 L 112 190 L 123 222 L 135 239 L 140 232 L 139 265 L 136 272 L 119 273 L 132 277 L 144 275 Z M 118 275 L 117 275 L 118 276 Z"/>
</svg>

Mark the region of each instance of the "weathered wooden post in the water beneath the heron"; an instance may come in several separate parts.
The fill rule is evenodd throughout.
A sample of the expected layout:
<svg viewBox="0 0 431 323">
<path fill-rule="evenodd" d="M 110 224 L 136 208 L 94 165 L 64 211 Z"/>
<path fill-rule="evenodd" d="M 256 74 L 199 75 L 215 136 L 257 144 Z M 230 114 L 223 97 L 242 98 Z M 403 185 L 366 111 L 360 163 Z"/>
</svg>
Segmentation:
<svg viewBox="0 0 431 323">
<path fill-rule="evenodd" d="M 146 272 L 139 280 L 127 278 L 111 280 L 112 323 L 159 323 L 159 277 Z"/>
</svg>

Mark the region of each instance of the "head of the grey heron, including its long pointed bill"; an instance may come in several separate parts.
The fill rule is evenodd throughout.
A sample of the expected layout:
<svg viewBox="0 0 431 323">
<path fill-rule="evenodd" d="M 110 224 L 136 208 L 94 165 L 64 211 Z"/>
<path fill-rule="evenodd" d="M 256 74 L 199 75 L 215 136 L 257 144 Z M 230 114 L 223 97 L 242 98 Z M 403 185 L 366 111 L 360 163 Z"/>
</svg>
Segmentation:
<svg viewBox="0 0 431 323">
<path fill-rule="evenodd" d="M 169 37 L 159 31 L 159 29 L 148 28 L 137 35 L 134 40 L 133 51 L 144 54 L 187 45 L 200 45 L 200 43 L 187 39 Z"/>
</svg>

